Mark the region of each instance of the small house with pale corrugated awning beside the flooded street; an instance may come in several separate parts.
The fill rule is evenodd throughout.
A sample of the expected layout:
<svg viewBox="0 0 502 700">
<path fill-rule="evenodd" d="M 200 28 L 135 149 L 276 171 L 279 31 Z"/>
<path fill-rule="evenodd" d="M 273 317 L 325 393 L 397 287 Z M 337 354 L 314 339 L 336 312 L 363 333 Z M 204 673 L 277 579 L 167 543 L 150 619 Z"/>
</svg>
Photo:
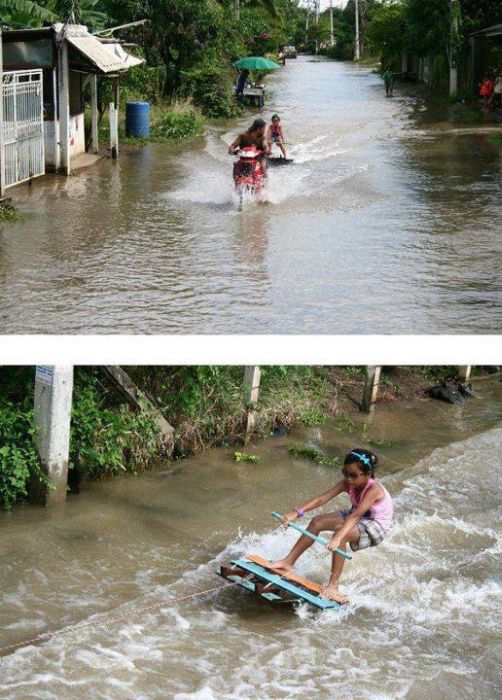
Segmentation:
<svg viewBox="0 0 502 700">
<path fill-rule="evenodd" d="M 2 189 L 46 171 L 68 175 L 98 153 L 98 80 L 103 78 L 115 85 L 110 134 L 116 156 L 119 79 L 143 59 L 127 53 L 117 40 L 100 40 L 78 24 L 7 30 L 0 37 Z M 86 86 L 91 94 L 87 139 Z"/>
</svg>

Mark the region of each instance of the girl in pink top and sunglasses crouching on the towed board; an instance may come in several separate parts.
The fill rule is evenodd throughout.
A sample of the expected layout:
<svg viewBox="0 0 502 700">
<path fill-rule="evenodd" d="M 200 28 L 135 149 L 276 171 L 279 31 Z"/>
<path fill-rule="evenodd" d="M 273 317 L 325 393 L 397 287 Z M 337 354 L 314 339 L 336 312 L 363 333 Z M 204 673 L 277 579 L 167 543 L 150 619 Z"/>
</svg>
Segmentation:
<svg viewBox="0 0 502 700">
<path fill-rule="evenodd" d="M 389 531 L 394 505 L 387 489 L 374 478 L 378 457 L 368 450 L 351 450 L 343 462 L 343 479 L 320 496 L 313 498 L 299 508 L 283 516 L 284 523 L 297 520 L 314 508 L 325 505 L 341 493 L 347 493 L 350 510 L 339 510 L 333 513 L 316 515 L 309 523 L 307 530 L 314 535 L 329 530 L 333 532 L 328 549 L 333 552 L 331 577 L 323 589 L 322 596 L 346 603 L 346 596 L 338 591 L 338 582 L 342 573 L 345 558 L 335 553 L 335 549 L 345 549 L 347 543 L 355 552 L 366 547 L 379 545 Z M 274 569 L 292 571 L 296 560 L 314 543 L 306 535 L 302 535 L 284 559 L 272 564 Z"/>
</svg>

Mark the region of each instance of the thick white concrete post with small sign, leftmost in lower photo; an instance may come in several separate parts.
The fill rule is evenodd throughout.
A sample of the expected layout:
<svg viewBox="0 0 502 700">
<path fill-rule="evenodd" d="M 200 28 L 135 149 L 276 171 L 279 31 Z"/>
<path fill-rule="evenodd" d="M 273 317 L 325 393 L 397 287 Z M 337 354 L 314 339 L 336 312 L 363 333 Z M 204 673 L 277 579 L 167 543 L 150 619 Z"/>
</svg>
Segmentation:
<svg viewBox="0 0 502 700">
<path fill-rule="evenodd" d="M 66 500 L 73 367 L 38 365 L 35 373 L 35 444 L 51 488 L 33 483 L 31 499 L 43 505 Z"/>
</svg>

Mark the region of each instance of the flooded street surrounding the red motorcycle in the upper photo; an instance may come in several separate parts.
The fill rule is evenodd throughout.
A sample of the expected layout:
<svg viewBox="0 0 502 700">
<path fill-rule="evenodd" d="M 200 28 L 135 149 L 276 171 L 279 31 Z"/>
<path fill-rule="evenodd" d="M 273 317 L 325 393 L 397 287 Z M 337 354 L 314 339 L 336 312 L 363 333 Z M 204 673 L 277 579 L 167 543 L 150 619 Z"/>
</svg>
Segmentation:
<svg viewBox="0 0 502 700">
<path fill-rule="evenodd" d="M 295 163 L 237 212 L 226 144 L 151 145 L 12 192 L 3 333 L 496 333 L 500 147 L 367 68 L 266 79 Z M 489 131 L 489 128 L 488 128 Z"/>
</svg>

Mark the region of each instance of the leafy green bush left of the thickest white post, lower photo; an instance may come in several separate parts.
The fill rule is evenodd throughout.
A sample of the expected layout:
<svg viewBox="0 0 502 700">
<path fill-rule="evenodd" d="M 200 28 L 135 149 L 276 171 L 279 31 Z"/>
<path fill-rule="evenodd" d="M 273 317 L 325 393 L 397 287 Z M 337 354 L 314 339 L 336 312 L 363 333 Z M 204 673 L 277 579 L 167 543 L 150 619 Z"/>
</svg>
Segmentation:
<svg viewBox="0 0 502 700">
<path fill-rule="evenodd" d="M 21 402 L 0 396 L 0 505 L 9 509 L 27 496 L 28 482 L 47 483 L 33 445 L 32 401 Z"/>
</svg>

